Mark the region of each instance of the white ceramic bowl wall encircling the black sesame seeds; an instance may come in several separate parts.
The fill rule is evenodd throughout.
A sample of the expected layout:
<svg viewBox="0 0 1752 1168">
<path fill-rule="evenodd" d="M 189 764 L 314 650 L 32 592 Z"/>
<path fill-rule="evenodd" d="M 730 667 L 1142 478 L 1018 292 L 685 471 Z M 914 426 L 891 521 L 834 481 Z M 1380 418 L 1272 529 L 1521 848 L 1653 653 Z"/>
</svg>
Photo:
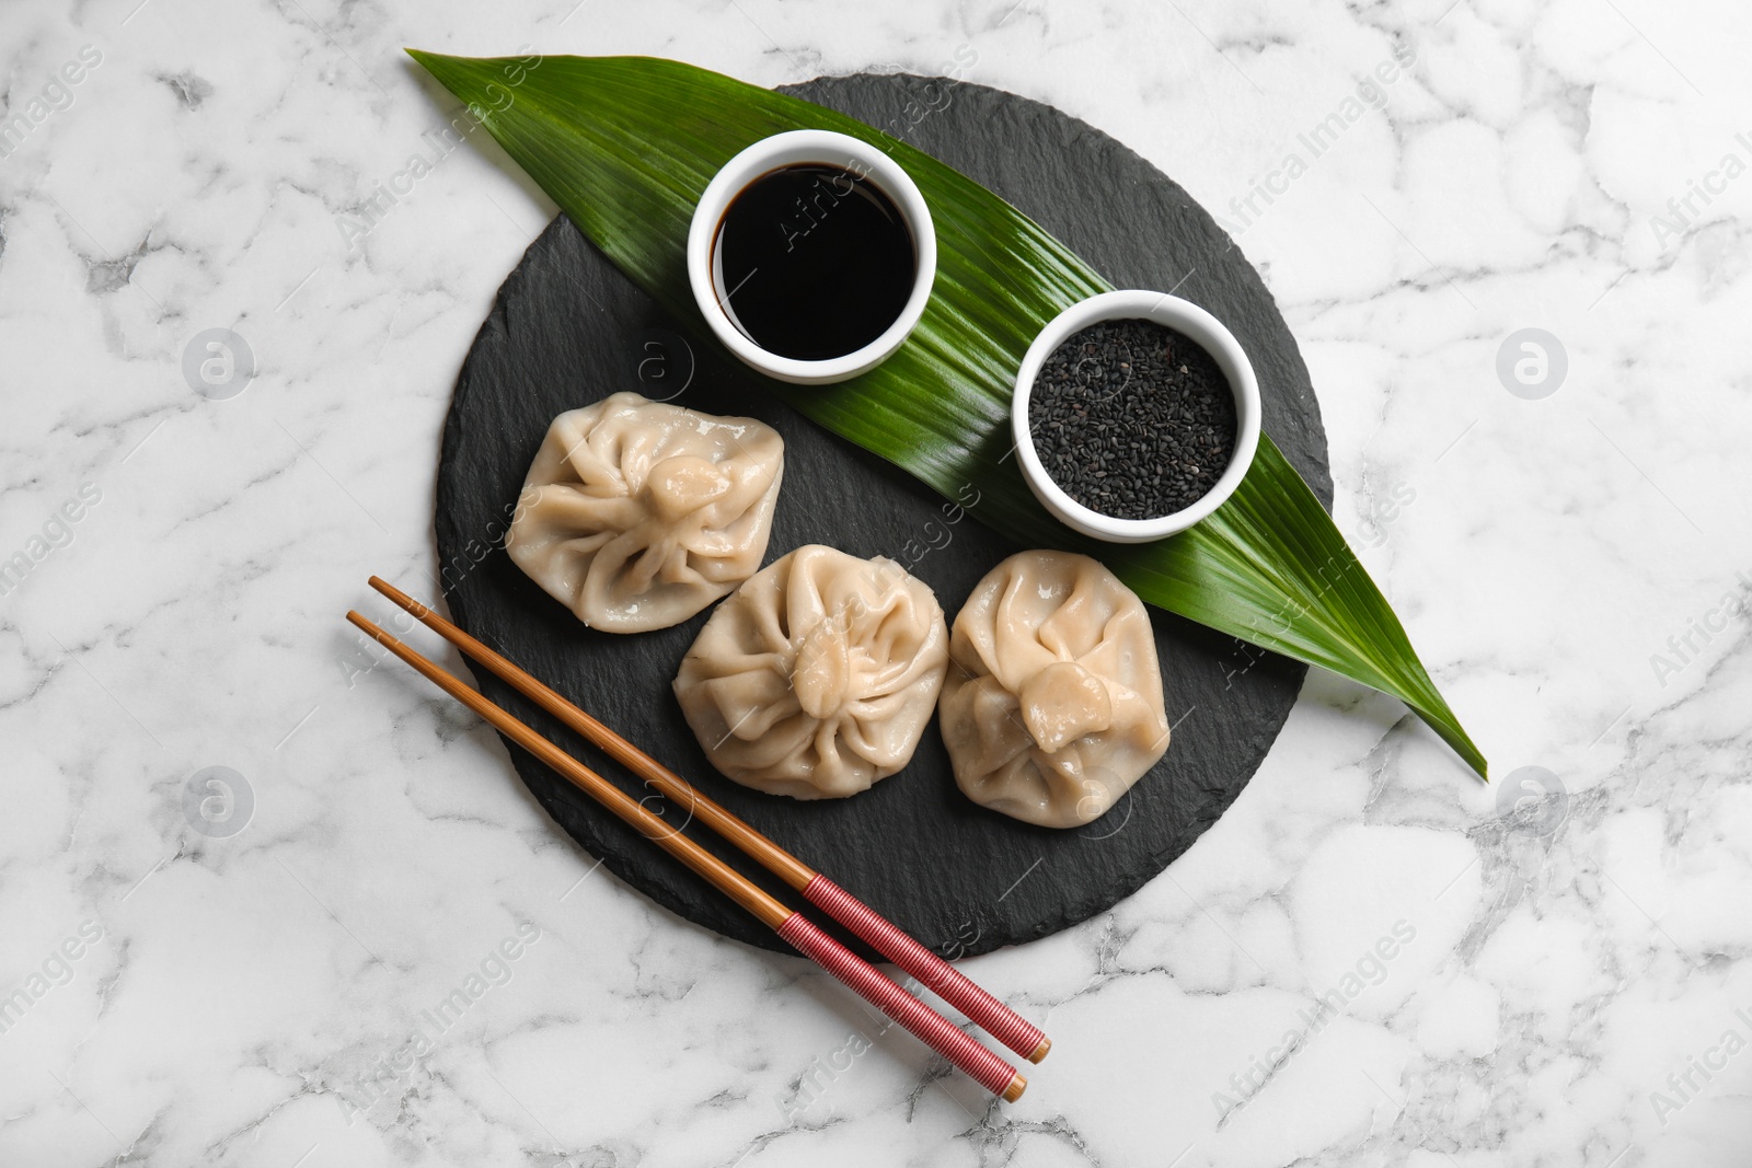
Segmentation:
<svg viewBox="0 0 1752 1168">
<path fill-rule="evenodd" d="M 1162 515 L 1160 518 L 1114 518 L 1083 506 L 1065 489 L 1053 482 L 1041 464 L 1041 455 L 1034 448 L 1034 431 L 1028 426 L 1028 392 L 1034 378 L 1041 373 L 1041 364 L 1053 355 L 1074 333 L 1102 320 L 1155 320 L 1195 340 L 1223 371 L 1230 391 L 1235 394 L 1235 448 L 1228 459 L 1228 469 L 1216 480 L 1216 485 L 1191 506 Z M 1021 475 L 1034 490 L 1034 497 L 1058 517 L 1067 527 L 1084 536 L 1106 539 L 1107 543 L 1148 543 L 1174 532 L 1186 531 L 1211 511 L 1223 506 L 1242 476 L 1253 464 L 1253 452 L 1260 447 L 1260 383 L 1253 376 L 1253 362 L 1240 348 L 1233 333 L 1223 322 L 1191 301 L 1167 292 L 1146 292 L 1127 289 L 1120 292 L 1102 292 L 1070 305 L 1053 317 L 1041 334 L 1028 345 L 1016 373 L 1016 392 L 1011 398 L 1011 429 L 1016 436 L 1016 457 L 1021 462 Z"/>
</svg>

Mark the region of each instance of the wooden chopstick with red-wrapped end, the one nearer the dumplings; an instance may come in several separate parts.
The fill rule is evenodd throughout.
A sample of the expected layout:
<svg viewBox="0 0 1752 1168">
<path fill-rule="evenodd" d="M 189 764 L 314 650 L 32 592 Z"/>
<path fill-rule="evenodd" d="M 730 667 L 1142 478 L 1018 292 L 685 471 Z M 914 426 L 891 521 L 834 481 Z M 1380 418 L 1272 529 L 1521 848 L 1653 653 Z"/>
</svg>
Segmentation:
<svg viewBox="0 0 1752 1168">
<path fill-rule="evenodd" d="M 610 758 L 624 765 L 627 770 L 632 770 L 632 774 L 639 776 L 675 802 L 687 807 L 706 827 L 736 844 L 746 856 L 759 862 L 767 872 L 773 872 L 781 881 L 801 891 L 811 904 L 844 925 L 853 935 L 869 942 L 876 953 L 883 954 L 916 977 L 922 986 L 958 1009 L 988 1035 L 1007 1045 L 1016 1054 L 1021 1054 L 1030 1063 L 1039 1063 L 1046 1058 L 1046 1052 L 1053 1044 L 1037 1026 L 976 986 L 965 974 L 958 972 L 936 953 L 901 932 L 899 926 L 834 881 L 827 879 L 827 876 L 816 872 L 802 860 L 774 844 L 746 821 L 703 795 L 692 783 L 678 776 L 675 770 L 669 770 L 638 746 L 573 706 L 564 695 L 548 688 L 501 653 L 496 653 L 470 634 L 463 632 L 401 588 L 380 576 L 371 576 L 371 587 L 389 597 L 389 601 L 410 616 L 442 636 L 445 641 L 457 646 L 466 655 L 473 657 L 477 662 L 508 681 L 519 693 L 541 706 L 585 739 L 596 742 L 596 746 L 599 746 Z"/>
</svg>

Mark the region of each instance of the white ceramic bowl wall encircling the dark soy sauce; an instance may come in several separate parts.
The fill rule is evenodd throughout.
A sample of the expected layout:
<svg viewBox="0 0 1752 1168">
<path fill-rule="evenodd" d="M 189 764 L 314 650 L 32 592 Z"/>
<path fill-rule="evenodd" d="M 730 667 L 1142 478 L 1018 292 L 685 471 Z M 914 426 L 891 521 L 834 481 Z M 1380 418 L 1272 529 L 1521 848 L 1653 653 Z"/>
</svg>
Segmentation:
<svg viewBox="0 0 1752 1168">
<path fill-rule="evenodd" d="M 864 182 L 874 182 L 901 208 L 906 226 L 913 233 L 913 250 L 918 257 L 913 292 L 894 324 L 869 345 L 827 361 L 780 357 L 752 341 L 724 310 L 718 282 L 713 278 L 718 226 L 724 222 L 724 212 L 729 210 L 731 201 L 760 175 L 806 163 L 843 166 L 862 175 Z M 760 373 L 802 385 L 844 382 L 887 359 L 925 315 L 925 301 L 930 299 L 930 285 L 936 278 L 937 233 L 918 186 L 874 145 L 827 130 L 776 133 L 724 163 L 724 168 L 706 184 L 706 193 L 699 196 L 699 207 L 694 208 L 694 219 L 687 231 L 687 280 L 694 289 L 694 303 L 699 305 L 713 334 L 724 341 L 725 348 Z"/>
</svg>

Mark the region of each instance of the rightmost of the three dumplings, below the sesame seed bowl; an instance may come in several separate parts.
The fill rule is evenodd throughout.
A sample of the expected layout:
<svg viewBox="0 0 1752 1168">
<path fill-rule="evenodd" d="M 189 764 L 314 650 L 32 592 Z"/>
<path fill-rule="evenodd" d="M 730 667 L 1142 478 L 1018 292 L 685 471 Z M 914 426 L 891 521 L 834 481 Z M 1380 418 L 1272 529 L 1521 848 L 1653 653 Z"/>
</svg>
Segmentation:
<svg viewBox="0 0 1752 1168">
<path fill-rule="evenodd" d="M 955 785 L 1041 827 L 1099 820 L 1169 748 L 1144 602 L 1086 555 L 1020 552 L 955 616 L 943 741 Z"/>
</svg>

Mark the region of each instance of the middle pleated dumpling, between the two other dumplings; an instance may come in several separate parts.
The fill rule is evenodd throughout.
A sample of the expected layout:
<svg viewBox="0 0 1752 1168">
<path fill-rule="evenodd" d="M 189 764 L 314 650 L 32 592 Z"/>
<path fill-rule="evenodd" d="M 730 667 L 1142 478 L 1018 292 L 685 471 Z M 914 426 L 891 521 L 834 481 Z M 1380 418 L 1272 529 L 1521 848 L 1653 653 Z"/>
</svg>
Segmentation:
<svg viewBox="0 0 1752 1168">
<path fill-rule="evenodd" d="M 913 758 L 948 639 L 936 594 L 899 564 L 806 545 L 706 620 L 675 695 L 727 777 L 841 799 Z"/>
</svg>

